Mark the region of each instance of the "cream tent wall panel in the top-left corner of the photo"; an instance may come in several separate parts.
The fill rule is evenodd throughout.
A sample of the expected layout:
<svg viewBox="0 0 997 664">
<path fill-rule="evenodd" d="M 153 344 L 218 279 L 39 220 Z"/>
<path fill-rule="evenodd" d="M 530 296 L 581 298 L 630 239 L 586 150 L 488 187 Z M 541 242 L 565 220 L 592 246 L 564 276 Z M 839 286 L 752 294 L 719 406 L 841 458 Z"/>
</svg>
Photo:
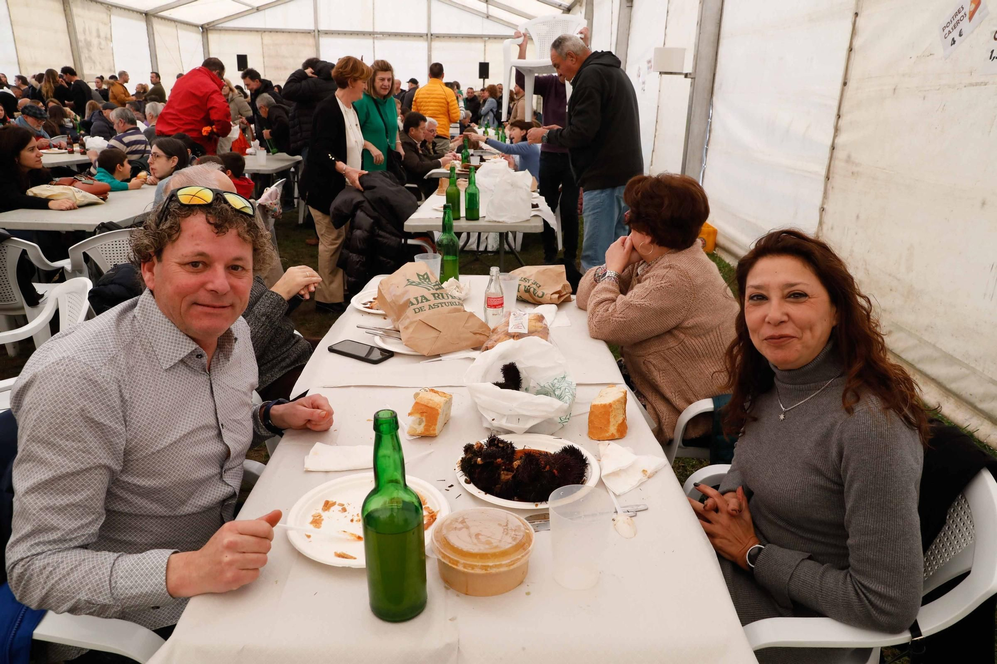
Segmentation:
<svg viewBox="0 0 997 664">
<path fill-rule="evenodd" d="M 32 76 L 50 68 L 58 71 L 73 62 L 61 0 L 15 0 L 7 8 L 21 66 L 18 73 Z"/>
</svg>

